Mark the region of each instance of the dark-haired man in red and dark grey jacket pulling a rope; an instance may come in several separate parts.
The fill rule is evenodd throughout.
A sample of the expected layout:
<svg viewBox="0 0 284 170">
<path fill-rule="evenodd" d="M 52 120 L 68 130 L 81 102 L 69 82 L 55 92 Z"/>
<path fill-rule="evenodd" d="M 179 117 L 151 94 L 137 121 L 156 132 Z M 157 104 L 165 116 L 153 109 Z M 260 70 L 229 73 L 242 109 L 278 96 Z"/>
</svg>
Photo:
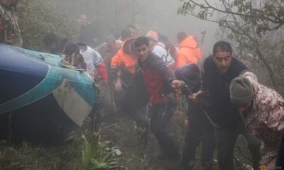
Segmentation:
<svg viewBox="0 0 284 170">
<path fill-rule="evenodd" d="M 167 92 L 171 87 L 180 88 L 182 81 L 175 78 L 163 60 L 150 52 L 148 38 L 139 37 L 134 45 L 138 55 L 138 66 L 141 67 L 143 81 L 151 102 L 151 108 L 149 108 L 151 130 L 158 140 L 162 156 L 174 166 L 174 162 L 178 163 L 179 160 L 178 149 L 166 132 L 166 127 L 175 111 L 175 105 L 169 101 Z"/>
</svg>

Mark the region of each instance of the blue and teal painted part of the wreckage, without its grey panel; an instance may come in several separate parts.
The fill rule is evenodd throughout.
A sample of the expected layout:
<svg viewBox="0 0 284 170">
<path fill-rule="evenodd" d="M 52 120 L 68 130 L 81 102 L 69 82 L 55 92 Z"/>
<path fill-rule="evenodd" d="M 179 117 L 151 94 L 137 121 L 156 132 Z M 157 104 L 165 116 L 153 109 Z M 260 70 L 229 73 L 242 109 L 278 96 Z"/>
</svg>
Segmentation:
<svg viewBox="0 0 284 170">
<path fill-rule="evenodd" d="M 63 79 L 67 79 L 90 106 L 94 106 L 98 98 L 97 87 L 85 72 L 48 66 L 9 45 L 0 44 L 0 78 L 0 113 L 38 101 L 60 86 Z"/>
</svg>

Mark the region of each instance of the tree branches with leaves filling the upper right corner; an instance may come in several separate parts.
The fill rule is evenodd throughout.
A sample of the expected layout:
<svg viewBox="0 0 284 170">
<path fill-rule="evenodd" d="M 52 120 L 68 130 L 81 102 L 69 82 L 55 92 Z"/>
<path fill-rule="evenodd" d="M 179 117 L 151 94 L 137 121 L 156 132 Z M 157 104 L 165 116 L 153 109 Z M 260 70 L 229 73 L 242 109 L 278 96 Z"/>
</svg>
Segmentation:
<svg viewBox="0 0 284 170">
<path fill-rule="evenodd" d="M 236 57 L 263 82 L 284 92 L 282 0 L 182 0 L 180 15 L 219 23 L 218 38 L 233 42 Z"/>
</svg>

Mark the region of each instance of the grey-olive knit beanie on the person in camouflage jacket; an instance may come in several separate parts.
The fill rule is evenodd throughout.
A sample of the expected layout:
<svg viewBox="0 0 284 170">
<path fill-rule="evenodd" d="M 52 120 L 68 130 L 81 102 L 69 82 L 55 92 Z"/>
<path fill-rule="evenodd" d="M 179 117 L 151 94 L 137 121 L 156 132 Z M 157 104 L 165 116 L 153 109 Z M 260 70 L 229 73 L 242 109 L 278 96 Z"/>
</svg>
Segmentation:
<svg viewBox="0 0 284 170">
<path fill-rule="evenodd" d="M 253 100 L 255 96 L 251 81 L 244 76 L 234 78 L 230 84 L 231 103 L 243 106 Z"/>
</svg>

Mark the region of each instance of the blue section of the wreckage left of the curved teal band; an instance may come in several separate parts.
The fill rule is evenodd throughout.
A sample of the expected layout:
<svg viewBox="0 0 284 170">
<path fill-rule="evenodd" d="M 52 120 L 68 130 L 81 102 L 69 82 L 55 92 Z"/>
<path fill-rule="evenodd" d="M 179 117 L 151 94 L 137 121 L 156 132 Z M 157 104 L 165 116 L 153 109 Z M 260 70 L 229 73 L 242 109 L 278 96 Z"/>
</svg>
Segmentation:
<svg viewBox="0 0 284 170">
<path fill-rule="evenodd" d="M 47 64 L 20 51 L 18 47 L 0 44 L 0 104 L 33 89 L 48 73 Z"/>
</svg>

